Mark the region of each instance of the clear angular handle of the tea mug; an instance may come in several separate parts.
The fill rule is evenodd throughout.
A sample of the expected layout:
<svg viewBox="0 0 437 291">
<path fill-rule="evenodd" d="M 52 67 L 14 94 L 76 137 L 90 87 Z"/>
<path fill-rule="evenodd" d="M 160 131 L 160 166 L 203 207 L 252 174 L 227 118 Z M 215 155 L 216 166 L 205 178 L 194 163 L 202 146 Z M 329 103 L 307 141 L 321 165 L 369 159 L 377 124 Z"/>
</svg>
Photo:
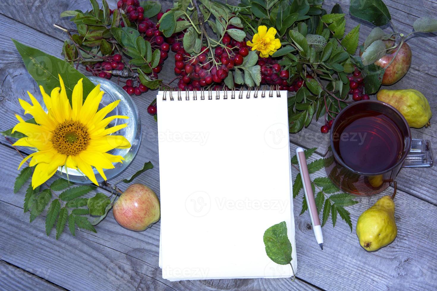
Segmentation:
<svg viewBox="0 0 437 291">
<path fill-rule="evenodd" d="M 432 167 L 433 151 L 430 140 L 411 139 L 411 149 L 402 168 Z"/>
</svg>

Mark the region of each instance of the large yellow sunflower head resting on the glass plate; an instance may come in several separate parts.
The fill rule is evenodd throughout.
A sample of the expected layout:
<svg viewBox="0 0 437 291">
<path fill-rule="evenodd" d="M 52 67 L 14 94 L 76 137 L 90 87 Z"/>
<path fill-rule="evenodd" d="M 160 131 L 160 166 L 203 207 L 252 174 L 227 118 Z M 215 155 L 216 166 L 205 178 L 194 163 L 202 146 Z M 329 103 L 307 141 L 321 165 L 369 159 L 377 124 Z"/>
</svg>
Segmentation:
<svg viewBox="0 0 437 291">
<path fill-rule="evenodd" d="M 112 134 L 128 124 L 123 123 L 106 128 L 116 119 L 127 119 L 128 116 L 113 115 L 106 117 L 118 105 L 120 100 L 98 110 L 104 94 L 100 84 L 88 94 L 83 102 L 82 79 L 73 89 L 72 105 L 67 98 L 64 82 L 59 76 L 60 88 L 52 90 L 50 96 L 39 86 L 48 113 L 42 109 L 38 100 L 28 92 L 32 105 L 19 99 L 24 114 L 31 114 L 37 124 L 27 123 L 19 115 L 15 115 L 19 123 L 12 132 L 18 131 L 26 135 L 14 144 L 15 146 L 35 147 L 38 149 L 25 157 L 18 168 L 29 158 L 30 166 L 35 166 L 32 176 L 32 187 L 35 189 L 47 181 L 61 166 L 79 169 L 94 184 L 97 180 L 92 167 L 106 180 L 103 169 L 114 168 L 112 163 L 122 162 L 121 156 L 108 154 L 114 148 L 128 148 L 129 141 L 120 135 Z M 98 110 L 98 111 L 97 111 Z"/>
</svg>

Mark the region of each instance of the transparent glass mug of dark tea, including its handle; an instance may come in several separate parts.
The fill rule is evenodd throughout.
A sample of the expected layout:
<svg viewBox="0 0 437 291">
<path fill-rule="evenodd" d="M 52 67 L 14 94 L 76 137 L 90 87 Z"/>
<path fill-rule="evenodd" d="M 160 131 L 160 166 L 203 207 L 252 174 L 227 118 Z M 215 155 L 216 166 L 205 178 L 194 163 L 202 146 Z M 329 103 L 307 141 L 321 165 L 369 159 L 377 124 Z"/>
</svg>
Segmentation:
<svg viewBox="0 0 437 291">
<path fill-rule="evenodd" d="M 330 130 L 325 170 L 342 191 L 357 196 L 378 194 L 401 168 L 432 167 L 429 140 L 411 138 L 404 116 L 378 100 L 344 108 Z"/>
</svg>

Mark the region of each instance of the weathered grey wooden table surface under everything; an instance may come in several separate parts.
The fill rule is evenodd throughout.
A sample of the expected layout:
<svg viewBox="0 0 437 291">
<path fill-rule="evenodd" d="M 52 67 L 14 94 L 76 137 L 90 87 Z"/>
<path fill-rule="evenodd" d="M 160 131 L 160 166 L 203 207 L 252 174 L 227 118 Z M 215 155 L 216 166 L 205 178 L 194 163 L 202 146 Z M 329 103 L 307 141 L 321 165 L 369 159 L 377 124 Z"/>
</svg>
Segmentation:
<svg viewBox="0 0 437 291">
<path fill-rule="evenodd" d="M 108 1 L 111 8 L 116 1 Z M 330 11 L 336 2 L 348 11 L 349 1 L 325 1 Z M 436 0 L 385 0 L 393 23 L 399 32 L 409 33 L 419 16 L 435 17 Z M 163 8 L 171 1 L 163 2 Z M 14 126 L 14 113 L 23 114 L 18 98 L 27 98 L 26 91 L 39 97 L 35 81 L 24 68 L 20 55 L 10 38 L 31 45 L 51 55 L 61 57 L 66 35 L 52 26 L 57 23 L 72 27 L 59 19 L 63 10 L 90 9 L 88 0 L 35 0 L 2 2 L 0 21 L 0 124 L 5 130 Z M 360 41 L 373 28 L 347 16 L 349 31 L 361 23 Z M 413 137 L 430 139 L 437 144 L 437 37 L 414 37 L 408 43 L 413 50 L 413 64 L 406 77 L 390 89 L 419 89 L 430 101 L 434 113 L 430 128 L 413 129 Z M 160 76 L 173 78 L 173 55 L 165 63 Z M 152 161 L 137 182 L 149 185 L 158 195 L 159 163 L 156 122 L 146 112 L 156 91 L 133 96 L 141 113 L 143 139 L 135 161 L 124 172 L 127 177 L 145 161 Z M 372 96 L 372 98 L 375 98 Z M 298 134 L 291 134 L 291 152 L 297 146 L 318 147 L 310 159 L 326 152 L 328 135 L 321 134 L 321 123 L 311 125 Z M 145 232 L 132 232 L 119 226 L 112 212 L 97 226 L 97 233 L 76 230 L 73 237 L 67 231 L 59 240 L 54 233 L 45 234 L 45 217 L 32 224 L 23 213 L 24 192 L 13 194 L 14 178 L 21 157 L 3 137 L 0 137 L 1 195 L 0 195 L 0 289 L 74 289 L 74 290 L 307 290 L 307 289 L 420 289 L 437 288 L 437 167 L 402 169 L 396 195 L 398 236 L 389 246 L 376 253 L 367 253 L 358 244 L 355 228 L 350 232 L 346 223 L 337 219 L 323 228 L 325 243 L 320 251 L 315 243 L 307 213 L 299 216 L 302 194 L 295 199 L 296 247 L 298 274 L 290 279 L 205 280 L 170 282 L 162 279 L 158 267 L 160 223 Z M 436 152 L 436 151 L 435 151 Z M 293 169 L 295 176 L 297 171 Z M 392 193 L 392 188 L 384 194 Z M 102 192 L 102 189 L 99 189 Z M 347 209 L 355 226 L 358 216 L 381 195 L 362 198 Z M 330 220 L 330 219 L 329 219 Z"/>
</svg>

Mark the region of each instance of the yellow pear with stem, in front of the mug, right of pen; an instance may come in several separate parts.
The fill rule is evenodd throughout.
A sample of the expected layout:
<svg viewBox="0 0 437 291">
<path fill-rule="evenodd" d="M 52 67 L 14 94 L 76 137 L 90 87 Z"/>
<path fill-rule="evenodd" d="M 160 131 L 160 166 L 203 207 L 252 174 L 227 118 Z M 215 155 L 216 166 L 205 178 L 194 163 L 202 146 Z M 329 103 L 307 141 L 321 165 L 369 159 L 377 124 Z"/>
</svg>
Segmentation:
<svg viewBox="0 0 437 291">
<path fill-rule="evenodd" d="M 395 222 L 395 202 L 390 196 L 379 199 L 361 213 L 357 220 L 357 236 L 367 251 L 379 250 L 395 240 L 398 228 Z"/>
</svg>

